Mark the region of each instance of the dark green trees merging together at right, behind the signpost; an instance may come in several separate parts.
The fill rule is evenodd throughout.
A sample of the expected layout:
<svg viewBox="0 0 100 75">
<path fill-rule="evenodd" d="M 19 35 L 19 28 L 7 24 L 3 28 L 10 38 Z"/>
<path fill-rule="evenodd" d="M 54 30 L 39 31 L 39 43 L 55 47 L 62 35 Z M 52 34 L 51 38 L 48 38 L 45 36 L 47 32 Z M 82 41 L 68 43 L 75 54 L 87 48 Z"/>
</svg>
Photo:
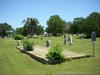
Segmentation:
<svg viewBox="0 0 100 75">
<path fill-rule="evenodd" d="M 86 18 L 75 18 L 71 25 L 72 33 L 84 33 L 86 37 L 91 37 L 91 32 L 95 31 L 100 36 L 100 13 L 93 12 Z"/>
</svg>

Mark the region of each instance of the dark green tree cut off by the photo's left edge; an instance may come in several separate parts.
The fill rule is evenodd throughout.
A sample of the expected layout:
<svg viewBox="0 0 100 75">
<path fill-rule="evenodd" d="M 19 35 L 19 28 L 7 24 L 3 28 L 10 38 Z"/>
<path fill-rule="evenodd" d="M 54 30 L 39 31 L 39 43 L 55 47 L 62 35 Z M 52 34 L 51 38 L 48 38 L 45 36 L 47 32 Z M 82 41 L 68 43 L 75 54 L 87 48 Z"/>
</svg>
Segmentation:
<svg viewBox="0 0 100 75">
<path fill-rule="evenodd" d="M 11 35 L 13 30 L 14 29 L 11 27 L 11 25 L 7 23 L 0 23 L 0 36 L 2 36 L 2 38 Z"/>
</svg>

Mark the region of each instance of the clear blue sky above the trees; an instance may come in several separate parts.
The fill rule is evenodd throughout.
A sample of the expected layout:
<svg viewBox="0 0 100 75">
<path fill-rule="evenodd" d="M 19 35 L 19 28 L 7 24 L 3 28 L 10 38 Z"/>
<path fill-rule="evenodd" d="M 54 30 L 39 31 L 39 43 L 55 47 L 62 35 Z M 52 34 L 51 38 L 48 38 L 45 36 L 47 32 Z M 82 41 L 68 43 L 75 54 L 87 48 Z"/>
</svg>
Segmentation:
<svg viewBox="0 0 100 75">
<path fill-rule="evenodd" d="M 37 18 L 46 28 L 52 15 L 69 22 L 92 12 L 100 13 L 100 0 L 0 0 L 0 23 L 6 22 L 14 29 L 22 27 L 28 17 Z"/>
</svg>

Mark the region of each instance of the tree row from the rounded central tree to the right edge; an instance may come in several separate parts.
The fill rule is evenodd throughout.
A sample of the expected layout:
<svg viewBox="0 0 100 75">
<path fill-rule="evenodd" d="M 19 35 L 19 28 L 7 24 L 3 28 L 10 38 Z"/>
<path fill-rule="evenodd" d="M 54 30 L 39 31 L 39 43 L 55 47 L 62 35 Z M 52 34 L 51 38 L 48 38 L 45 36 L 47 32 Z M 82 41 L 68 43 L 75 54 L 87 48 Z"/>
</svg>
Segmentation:
<svg viewBox="0 0 100 75">
<path fill-rule="evenodd" d="M 85 34 L 86 37 L 91 37 L 91 32 L 95 31 L 96 35 L 100 37 L 100 13 L 93 12 L 86 18 L 77 17 L 73 22 L 65 22 L 59 15 L 54 15 L 47 21 L 48 33 L 57 35 L 58 33 L 69 34 Z"/>
</svg>

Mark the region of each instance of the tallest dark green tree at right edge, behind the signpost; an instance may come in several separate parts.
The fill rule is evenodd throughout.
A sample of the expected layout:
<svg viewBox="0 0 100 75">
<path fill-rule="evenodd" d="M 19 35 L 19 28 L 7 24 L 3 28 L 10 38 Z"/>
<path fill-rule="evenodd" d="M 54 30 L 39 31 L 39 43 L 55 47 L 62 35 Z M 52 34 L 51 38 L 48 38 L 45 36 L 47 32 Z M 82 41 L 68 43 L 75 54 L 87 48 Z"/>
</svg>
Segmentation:
<svg viewBox="0 0 100 75">
<path fill-rule="evenodd" d="M 91 32 L 95 31 L 100 36 L 100 13 L 93 12 L 84 20 L 84 33 L 91 37 Z"/>
</svg>

